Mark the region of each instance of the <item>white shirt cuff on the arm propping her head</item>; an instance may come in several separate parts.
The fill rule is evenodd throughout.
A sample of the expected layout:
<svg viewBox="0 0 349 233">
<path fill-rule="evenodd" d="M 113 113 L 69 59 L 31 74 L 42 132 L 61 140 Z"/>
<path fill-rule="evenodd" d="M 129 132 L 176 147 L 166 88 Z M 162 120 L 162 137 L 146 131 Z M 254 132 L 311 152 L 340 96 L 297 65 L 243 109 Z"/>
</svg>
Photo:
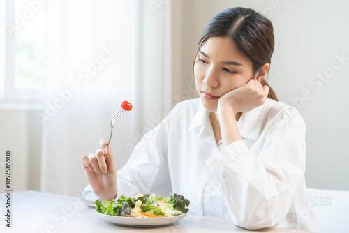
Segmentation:
<svg viewBox="0 0 349 233">
<path fill-rule="evenodd" d="M 226 146 L 219 153 L 216 153 L 212 158 L 205 161 L 209 171 L 211 173 L 221 172 L 231 163 L 235 163 L 237 159 L 244 153 L 248 153 L 249 150 L 244 141 L 239 140 L 232 142 L 229 146 Z"/>
</svg>

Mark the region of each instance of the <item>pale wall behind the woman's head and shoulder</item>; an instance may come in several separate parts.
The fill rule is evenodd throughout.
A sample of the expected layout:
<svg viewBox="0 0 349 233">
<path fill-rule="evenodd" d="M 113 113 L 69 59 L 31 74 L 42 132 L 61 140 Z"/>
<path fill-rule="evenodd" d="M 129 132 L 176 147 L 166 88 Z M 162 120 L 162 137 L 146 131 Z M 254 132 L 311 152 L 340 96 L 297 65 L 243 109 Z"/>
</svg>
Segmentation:
<svg viewBox="0 0 349 233">
<path fill-rule="evenodd" d="M 349 58 L 348 1 L 181 1 L 181 64 L 186 89 L 200 33 L 208 20 L 225 8 L 259 9 L 274 25 L 276 45 L 269 84 L 279 100 L 296 105 L 307 126 L 306 180 L 311 188 L 349 190 Z M 273 9 L 274 8 L 274 9 Z M 334 66 L 341 66 L 330 71 Z M 327 73 L 328 81 L 314 79 Z M 324 75 L 325 77 L 325 75 Z M 309 82 L 317 82 L 311 84 Z M 320 86 L 321 85 L 321 86 Z M 306 93 L 306 99 L 302 98 Z M 297 99 L 296 104 L 294 101 Z M 293 100 L 293 102 L 292 102 Z"/>
</svg>

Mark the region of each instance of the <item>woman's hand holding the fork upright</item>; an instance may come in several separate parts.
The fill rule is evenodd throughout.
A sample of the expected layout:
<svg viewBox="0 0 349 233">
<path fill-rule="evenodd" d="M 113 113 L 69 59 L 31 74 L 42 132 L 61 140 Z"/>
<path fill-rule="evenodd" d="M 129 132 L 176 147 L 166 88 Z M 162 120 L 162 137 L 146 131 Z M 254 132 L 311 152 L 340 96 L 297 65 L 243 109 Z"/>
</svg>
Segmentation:
<svg viewBox="0 0 349 233">
<path fill-rule="evenodd" d="M 89 156 L 82 156 L 82 167 L 94 193 L 102 200 L 112 200 L 117 196 L 117 165 L 107 140 L 100 140 L 101 149 Z"/>
</svg>

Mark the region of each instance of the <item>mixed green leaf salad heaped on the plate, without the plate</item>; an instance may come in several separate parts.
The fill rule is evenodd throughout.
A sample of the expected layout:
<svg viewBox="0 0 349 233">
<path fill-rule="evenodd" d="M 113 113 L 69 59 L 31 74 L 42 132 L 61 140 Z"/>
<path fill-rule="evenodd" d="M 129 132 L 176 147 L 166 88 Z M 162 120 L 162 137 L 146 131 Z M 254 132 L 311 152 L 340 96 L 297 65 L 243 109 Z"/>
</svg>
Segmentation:
<svg viewBox="0 0 349 233">
<path fill-rule="evenodd" d="M 96 200 L 96 211 L 110 216 L 133 218 L 164 218 L 187 213 L 189 200 L 174 193 L 169 197 L 156 197 L 154 193 L 138 194 L 133 197 L 121 196 L 117 201 Z"/>
</svg>

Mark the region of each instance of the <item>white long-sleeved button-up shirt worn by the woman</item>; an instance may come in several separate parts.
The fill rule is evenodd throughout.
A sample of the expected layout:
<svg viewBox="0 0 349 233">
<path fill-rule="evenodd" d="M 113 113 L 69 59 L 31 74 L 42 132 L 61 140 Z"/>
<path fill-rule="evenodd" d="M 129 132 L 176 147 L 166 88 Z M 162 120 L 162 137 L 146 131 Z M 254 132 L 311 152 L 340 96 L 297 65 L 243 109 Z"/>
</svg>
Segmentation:
<svg viewBox="0 0 349 233">
<path fill-rule="evenodd" d="M 235 116 L 232 116 L 235 117 Z M 178 103 L 117 172 L 118 197 L 184 195 L 190 212 L 258 229 L 316 231 L 304 179 L 305 123 L 271 99 L 237 122 L 242 140 L 216 143 L 200 98 Z"/>
</svg>

